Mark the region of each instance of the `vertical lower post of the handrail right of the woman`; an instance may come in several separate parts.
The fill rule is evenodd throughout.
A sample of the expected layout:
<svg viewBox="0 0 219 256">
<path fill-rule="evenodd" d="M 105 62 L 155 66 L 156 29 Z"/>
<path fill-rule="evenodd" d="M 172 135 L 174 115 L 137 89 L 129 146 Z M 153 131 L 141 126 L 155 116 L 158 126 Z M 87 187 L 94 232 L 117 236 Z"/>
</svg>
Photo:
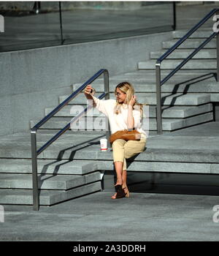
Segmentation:
<svg viewBox="0 0 219 256">
<path fill-rule="evenodd" d="M 156 75 L 156 98 L 157 98 L 157 108 L 156 108 L 157 132 L 158 132 L 158 135 L 161 135 L 162 134 L 161 62 L 157 62 L 155 65 L 155 75 Z"/>
</svg>

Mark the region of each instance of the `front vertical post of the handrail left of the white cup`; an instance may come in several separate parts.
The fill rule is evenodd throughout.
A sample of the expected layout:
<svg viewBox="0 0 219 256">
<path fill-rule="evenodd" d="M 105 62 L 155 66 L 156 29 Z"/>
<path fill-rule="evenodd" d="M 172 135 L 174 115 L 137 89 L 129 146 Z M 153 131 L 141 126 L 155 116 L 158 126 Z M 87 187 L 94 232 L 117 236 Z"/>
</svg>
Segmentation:
<svg viewBox="0 0 219 256">
<path fill-rule="evenodd" d="M 37 174 L 37 130 L 31 129 L 31 159 L 32 159 L 32 182 L 33 182 L 33 208 L 39 211 L 39 189 Z"/>
</svg>

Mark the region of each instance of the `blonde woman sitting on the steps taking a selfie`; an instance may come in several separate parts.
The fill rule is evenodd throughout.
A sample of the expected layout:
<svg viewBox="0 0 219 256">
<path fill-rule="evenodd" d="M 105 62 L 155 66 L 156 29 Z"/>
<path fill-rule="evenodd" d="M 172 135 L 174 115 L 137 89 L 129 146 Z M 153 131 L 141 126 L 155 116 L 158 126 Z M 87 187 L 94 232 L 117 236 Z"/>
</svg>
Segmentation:
<svg viewBox="0 0 219 256">
<path fill-rule="evenodd" d="M 97 99 L 93 96 L 91 85 L 85 88 L 85 97 L 93 99 L 93 106 L 109 118 L 112 134 L 120 130 L 136 129 L 140 133 L 139 140 L 117 139 L 112 143 L 112 157 L 115 165 L 117 181 L 115 195 L 112 199 L 129 197 L 127 187 L 126 159 L 134 157 L 145 149 L 147 135 L 142 129 L 142 105 L 137 102 L 134 88 L 128 82 L 119 83 L 115 87 L 115 99 Z"/>
</svg>

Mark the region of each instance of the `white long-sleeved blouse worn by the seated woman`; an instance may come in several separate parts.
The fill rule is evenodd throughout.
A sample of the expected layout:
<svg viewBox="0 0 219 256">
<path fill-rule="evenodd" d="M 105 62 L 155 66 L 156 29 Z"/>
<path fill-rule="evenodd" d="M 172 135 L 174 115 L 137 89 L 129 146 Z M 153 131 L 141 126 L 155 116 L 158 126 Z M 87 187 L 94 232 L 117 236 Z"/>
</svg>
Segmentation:
<svg viewBox="0 0 219 256">
<path fill-rule="evenodd" d="M 96 103 L 96 108 L 109 119 L 111 134 L 123 129 L 128 129 L 128 106 L 126 104 L 123 104 L 120 108 L 120 113 L 116 114 L 114 110 L 116 105 L 115 99 L 97 99 L 94 96 L 92 97 L 93 101 Z M 134 117 L 134 128 L 142 134 L 142 138 L 147 138 L 146 132 L 142 129 L 140 110 L 135 108 L 132 113 Z"/>
</svg>

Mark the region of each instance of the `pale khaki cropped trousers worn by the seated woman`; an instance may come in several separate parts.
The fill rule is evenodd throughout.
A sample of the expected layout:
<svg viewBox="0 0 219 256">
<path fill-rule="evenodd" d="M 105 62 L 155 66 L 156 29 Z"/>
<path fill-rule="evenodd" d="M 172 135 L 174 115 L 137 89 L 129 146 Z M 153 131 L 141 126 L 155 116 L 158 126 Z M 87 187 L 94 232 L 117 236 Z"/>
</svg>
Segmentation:
<svg viewBox="0 0 219 256">
<path fill-rule="evenodd" d="M 134 157 L 145 150 L 146 138 L 141 140 L 115 140 L 112 143 L 113 162 L 123 162 L 123 170 L 127 170 L 126 159 Z"/>
</svg>

